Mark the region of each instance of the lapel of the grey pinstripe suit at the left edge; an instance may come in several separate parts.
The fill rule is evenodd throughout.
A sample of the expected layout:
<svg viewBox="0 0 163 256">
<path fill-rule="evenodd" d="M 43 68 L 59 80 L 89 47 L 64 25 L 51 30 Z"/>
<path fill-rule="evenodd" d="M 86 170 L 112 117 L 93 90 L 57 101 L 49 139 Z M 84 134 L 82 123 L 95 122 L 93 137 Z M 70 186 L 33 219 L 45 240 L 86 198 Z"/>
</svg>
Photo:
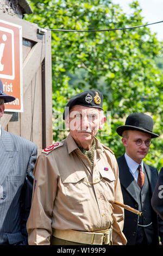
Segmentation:
<svg viewBox="0 0 163 256">
<path fill-rule="evenodd" d="M 11 167 L 15 161 L 15 155 L 17 154 L 16 149 L 14 149 L 14 144 L 11 140 L 10 133 L 1 129 L 1 139 L 0 139 L 0 151 L 1 151 L 1 161 L 0 161 L 0 185 L 3 184 L 6 176 L 10 172 Z"/>
</svg>

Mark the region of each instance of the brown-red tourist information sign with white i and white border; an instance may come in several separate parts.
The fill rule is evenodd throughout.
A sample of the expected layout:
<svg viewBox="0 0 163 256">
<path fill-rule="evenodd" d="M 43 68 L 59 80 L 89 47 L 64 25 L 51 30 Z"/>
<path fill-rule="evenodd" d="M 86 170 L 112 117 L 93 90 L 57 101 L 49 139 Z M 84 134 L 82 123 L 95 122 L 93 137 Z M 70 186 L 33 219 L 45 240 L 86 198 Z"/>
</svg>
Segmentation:
<svg viewBox="0 0 163 256">
<path fill-rule="evenodd" d="M 5 103 L 5 111 L 23 112 L 22 27 L 0 20 L 0 78 L 3 92 L 16 100 Z"/>
</svg>

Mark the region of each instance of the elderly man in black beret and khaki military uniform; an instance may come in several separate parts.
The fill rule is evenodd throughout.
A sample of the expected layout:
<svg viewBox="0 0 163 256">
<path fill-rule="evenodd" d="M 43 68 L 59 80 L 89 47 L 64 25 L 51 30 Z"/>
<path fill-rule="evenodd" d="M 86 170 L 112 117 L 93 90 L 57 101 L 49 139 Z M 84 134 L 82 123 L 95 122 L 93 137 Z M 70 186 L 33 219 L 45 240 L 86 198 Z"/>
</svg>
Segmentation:
<svg viewBox="0 0 163 256">
<path fill-rule="evenodd" d="M 79 93 L 63 118 L 70 133 L 45 148 L 35 164 L 29 245 L 126 245 L 114 153 L 95 137 L 102 129 L 103 95 Z M 67 111 L 67 109 L 69 111 Z"/>
</svg>

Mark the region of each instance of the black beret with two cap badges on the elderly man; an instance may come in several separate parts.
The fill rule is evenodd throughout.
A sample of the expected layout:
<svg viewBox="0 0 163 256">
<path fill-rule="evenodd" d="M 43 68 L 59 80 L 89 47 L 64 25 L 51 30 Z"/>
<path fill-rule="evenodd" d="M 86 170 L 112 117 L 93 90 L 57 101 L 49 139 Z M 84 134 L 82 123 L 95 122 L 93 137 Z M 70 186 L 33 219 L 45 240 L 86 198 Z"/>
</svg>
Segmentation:
<svg viewBox="0 0 163 256">
<path fill-rule="evenodd" d="M 79 93 L 73 96 L 70 101 L 68 101 L 66 107 L 69 107 L 64 111 L 63 119 L 69 113 L 70 109 L 74 105 L 80 105 L 85 107 L 96 107 L 103 109 L 103 94 L 98 90 L 86 90 L 85 92 Z"/>
</svg>

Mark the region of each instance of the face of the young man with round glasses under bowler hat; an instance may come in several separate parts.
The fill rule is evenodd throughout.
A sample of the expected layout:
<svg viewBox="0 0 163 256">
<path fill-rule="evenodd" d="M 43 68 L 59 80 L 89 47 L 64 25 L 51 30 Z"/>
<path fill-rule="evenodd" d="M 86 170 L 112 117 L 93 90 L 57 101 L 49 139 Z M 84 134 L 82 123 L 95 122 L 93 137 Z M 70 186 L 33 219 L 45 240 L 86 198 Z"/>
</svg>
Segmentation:
<svg viewBox="0 0 163 256">
<path fill-rule="evenodd" d="M 139 146 L 136 143 L 141 141 Z M 142 159 L 148 154 L 149 147 L 147 143 L 151 141 L 151 135 L 140 131 L 128 131 L 128 138 L 122 138 L 122 143 L 126 147 L 126 153 L 131 159 L 137 163 L 141 163 Z"/>
</svg>

